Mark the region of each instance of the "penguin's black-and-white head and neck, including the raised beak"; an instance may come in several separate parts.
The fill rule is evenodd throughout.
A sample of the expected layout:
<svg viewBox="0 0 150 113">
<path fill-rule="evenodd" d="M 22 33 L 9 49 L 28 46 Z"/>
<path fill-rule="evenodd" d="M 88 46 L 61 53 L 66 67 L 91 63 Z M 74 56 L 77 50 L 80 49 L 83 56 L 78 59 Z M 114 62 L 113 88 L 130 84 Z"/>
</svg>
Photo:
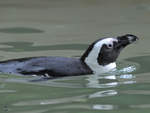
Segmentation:
<svg viewBox="0 0 150 113">
<path fill-rule="evenodd" d="M 138 38 L 131 34 L 112 38 L 101 38 L 93 42 L 81 60 L 95 73 L 108 72 L 116 67 L 121 50 Z"/>
</svg>

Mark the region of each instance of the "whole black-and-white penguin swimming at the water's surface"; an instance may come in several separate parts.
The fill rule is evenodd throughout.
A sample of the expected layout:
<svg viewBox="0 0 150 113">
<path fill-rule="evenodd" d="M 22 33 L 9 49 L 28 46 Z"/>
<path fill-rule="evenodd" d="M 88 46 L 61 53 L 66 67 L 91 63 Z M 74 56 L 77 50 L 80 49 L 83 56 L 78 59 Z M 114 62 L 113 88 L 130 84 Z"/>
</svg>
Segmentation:
<svg viewBox="0 0 150 113">
<path fill-rule="evenodd" d="M 93 42 L 81 58 L 32 57 L 0 62 L 0 72 L 16 75 L 46 77 L 101 74 L 116 68 L 121 50 L 138 38 L 131 34 L 102 38 Z"/>
</svg>

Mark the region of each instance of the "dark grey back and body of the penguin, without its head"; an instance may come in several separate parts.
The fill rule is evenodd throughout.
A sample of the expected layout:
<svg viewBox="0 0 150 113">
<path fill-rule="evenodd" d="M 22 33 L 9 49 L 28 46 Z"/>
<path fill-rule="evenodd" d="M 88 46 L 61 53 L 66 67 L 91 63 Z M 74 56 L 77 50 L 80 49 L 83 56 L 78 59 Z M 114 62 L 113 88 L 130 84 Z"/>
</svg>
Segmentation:
<svg viewBox="0 0 150 113">
<path fill-rule="evenodd" d="M 78 58 L 32 57 L 0 62 L 0 72 L 18 75 L 49 77 L 91 74 L 92 71 Z"/>
</svg>

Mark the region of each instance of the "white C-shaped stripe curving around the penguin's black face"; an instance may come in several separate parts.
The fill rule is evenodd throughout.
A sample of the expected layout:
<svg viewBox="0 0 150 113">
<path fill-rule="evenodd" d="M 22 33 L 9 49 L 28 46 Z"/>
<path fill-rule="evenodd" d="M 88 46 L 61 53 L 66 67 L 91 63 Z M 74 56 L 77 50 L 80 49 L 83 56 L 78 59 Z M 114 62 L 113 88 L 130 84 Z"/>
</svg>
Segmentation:
<svg viewBox="0 0 150 113">
<path fill-rule="evenodd" d="M 110 71 L 110 70 L 112 70 L 112 69 L 114 69 L 116 67 L 116 63 L 111 63 L 111 64 L 108 64 L 106 66 L 102 66 L 102 65 L 99 65 L 99 63 L 97 61 L 98 55 L 100 53 L 100 50 L 101 50 L 103 44 L 106 44 L 106 45 L 112 44 L 113 45 L 114 41 L 118 42 L 118 40 L 115 39 L 115 38 L 106 38 L 106 39 L 98 41 L 94 45 L 94 47 L 91 50 L 91 52 L 89 53 L 89 55 L 86 57 L 86 59 L 85 59 L 86 64 L 96 74 L 108 72 L 108 71 Z"/>
</svg>

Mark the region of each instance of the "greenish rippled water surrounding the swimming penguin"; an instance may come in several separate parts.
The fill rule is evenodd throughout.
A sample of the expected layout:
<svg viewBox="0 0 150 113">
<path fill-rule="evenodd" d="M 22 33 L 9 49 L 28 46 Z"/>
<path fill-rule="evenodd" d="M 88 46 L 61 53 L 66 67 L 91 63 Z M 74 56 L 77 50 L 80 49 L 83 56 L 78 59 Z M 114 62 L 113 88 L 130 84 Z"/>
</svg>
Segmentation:
<svg viewBox="0 0 150 113">
<path fill-rule="evenodd" d="M 0 1 L 0 60 L 81 56 L 103 36 L 139 36 L 117 60 L 118 70 L 31 82 L 0 75 L 0 113 L 148 113 L 150 1 Z"/>
</svg>

